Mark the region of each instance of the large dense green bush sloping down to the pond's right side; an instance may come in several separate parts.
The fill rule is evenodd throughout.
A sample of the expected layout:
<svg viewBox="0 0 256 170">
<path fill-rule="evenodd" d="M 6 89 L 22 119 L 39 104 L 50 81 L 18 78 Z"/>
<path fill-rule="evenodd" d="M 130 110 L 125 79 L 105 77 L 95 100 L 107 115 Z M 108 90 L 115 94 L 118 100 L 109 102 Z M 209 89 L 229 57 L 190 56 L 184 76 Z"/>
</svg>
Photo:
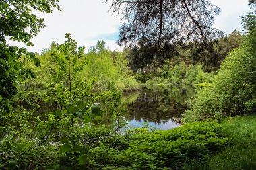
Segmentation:
<svg viewBox="0 0 256 170">
<path fill-rule="evenodd" d="M 197 93 L 191 110 L 183 115 L 185 122 L 213 118 L 217 112 L 229 114 L 254 114 L 256 91 L 255 16 L 243 18 L 248 30 L 239 48 L 230 52 L 222 62 L 212 85 Z"/>
</svg>

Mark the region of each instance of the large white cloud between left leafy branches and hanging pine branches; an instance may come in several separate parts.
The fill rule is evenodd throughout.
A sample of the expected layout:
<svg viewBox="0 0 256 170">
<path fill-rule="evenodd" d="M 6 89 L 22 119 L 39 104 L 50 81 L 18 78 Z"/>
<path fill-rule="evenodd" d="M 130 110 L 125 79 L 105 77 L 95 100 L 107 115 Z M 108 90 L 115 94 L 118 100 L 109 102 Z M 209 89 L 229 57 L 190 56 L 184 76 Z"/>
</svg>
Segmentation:
<svg viewBox="0 0 256 170">
<path fill-rule="evenodd" d="M 36 13 L 44 18 L 46 28 L 42 28 L 36 38 L 32 40 L 34 46 L 28 47 L 31 51 L 40 51 L 51 44 L 65 41 L 65 33 L 69 32 L 77 40 L 79 46 L 94 46 L 101 36 L 118 34 L 121 19 L 108 12 L 110 5 L 102 0 L 62 0 L 59 5 L 62 12 L 55 10 L 51 14 Z M 113 40 L 105 40 L 110 49 L 117 48 Z M 109 43 L 109 44 L 108 44 Z M 11 42 L 15 46 L 24 46 L 23 43 Z"/>
</svg>

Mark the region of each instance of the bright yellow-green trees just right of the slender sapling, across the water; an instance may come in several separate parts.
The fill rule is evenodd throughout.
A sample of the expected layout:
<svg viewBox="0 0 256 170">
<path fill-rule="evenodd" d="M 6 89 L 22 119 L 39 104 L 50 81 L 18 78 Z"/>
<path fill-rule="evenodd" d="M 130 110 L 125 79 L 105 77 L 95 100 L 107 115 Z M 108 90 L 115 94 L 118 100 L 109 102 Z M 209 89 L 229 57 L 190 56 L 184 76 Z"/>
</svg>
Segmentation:
<svg viewBox="0 0 256 170">
<path fill-rule="evenodd" d="M 86 62 L 83 71 L 88 79 L 96 79 L 93 87 L 96 93 L 111 88 L 120 91 L 139 89 L 139 83 L 133 78 L 123 52 L 110 52 L 104 46 L 104 41 L 98 41 L 96 48 L 89 50 Z"/>
</svg>

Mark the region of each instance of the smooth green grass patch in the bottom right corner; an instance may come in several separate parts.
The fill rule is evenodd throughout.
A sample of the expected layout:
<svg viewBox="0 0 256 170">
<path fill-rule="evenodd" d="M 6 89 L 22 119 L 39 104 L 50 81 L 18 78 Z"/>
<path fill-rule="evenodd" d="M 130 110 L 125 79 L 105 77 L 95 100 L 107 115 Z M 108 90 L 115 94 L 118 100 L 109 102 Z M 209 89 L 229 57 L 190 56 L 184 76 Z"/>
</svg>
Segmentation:
<svg viewBox="0 0 256 170">
<path fill-rule="evenodd" d="M 221 126 L 225 136 L 232 138 L 232 144 L 208 156 L 206 161 L 192 163 L 185 169 L 256 169 L 256 116 L 226 118 Z"/>
</svg>

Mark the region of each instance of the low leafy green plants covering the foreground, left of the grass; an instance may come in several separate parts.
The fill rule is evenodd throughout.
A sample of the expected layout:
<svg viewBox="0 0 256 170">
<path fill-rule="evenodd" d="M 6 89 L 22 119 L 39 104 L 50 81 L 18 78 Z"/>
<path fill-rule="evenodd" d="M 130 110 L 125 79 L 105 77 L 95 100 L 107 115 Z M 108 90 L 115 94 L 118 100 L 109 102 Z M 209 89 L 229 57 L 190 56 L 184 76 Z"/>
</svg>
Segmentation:
<svg viewBox="0 0 256 170">
<path fill-rule="evenodd" d="M 229 141 L 220 126 L 212 122 L 186 124 L 166 131 L 134 130 L 125 135 L 113 135 L 104 128 L 74 126 L 56 135 L 60 143 L 54 142 L 57 136 L 49 137 L 55 144 L 46 142 L 19 159 L 11 155 L 26 151 L 33 142 L 4 140 L 0 154 L 5 157 L 1 161 L 8 162 L 7 166 L 13 161 L 15 166 L 26 169 L 180 169 L 185 163 L 220 151 Z M 7 155 L 8 149 L 12 152 Z M 44 155 L 48 156 L 38 159 Z"/>
</svg>

